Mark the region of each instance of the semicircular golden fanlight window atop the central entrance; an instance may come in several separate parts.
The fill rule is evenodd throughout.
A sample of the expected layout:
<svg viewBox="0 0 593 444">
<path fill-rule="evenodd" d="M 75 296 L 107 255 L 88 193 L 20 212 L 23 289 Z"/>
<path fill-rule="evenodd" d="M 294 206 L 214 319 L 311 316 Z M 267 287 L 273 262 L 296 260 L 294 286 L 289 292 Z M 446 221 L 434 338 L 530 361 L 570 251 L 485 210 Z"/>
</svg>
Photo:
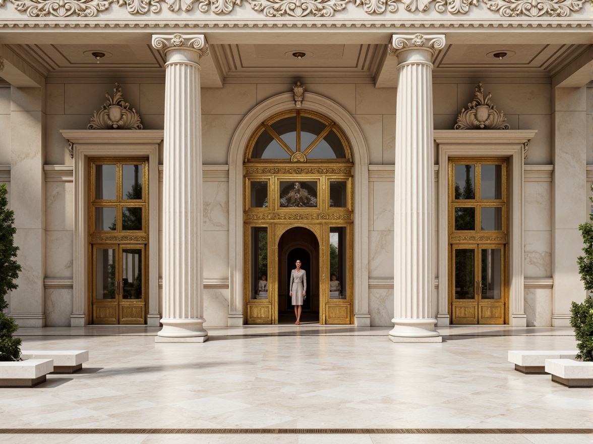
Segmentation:
<svg viewBox="0 0 593 444">
<path fill-rule="evenodd" d="M 342 130 L 319 113 L 289 110 L 265 120 L 254 132 L 246 151 L 250 159 L 352 161 Z"/>
</svg>

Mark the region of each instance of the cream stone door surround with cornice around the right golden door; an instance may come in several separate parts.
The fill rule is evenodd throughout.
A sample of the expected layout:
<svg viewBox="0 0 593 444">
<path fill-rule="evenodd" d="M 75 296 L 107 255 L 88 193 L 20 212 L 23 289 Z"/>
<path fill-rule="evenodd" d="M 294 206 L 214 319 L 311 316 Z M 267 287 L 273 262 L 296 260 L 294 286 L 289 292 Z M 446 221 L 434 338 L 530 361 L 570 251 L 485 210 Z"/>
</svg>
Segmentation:
<svg viewBox="0 0 593 444">
<path fill-rule="evenodd" d="M 449 325 L 448 206 L 449 157 L 506 157 L 509 159 L 509 324 L 527 326 L 524 309 L 523 168 L 529 141 L 536 130 L 435 130 L 438 150 L 438 326 Z"/>
</svg>

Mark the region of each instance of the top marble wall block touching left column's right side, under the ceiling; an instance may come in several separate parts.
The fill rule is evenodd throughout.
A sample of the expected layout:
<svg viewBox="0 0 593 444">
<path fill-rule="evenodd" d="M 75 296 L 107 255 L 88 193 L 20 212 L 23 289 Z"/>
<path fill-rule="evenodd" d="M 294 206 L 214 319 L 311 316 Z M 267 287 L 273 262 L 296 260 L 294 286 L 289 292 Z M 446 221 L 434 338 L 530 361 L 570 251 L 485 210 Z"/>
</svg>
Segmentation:
<svg viewBox="0 0 593 444">
<path fill-rule="evenodd" d="M 202 88 L 202 114 L 246 115 L 256 102 L 256 84 L 231 83 L 224 88 Z"/>
</svg>

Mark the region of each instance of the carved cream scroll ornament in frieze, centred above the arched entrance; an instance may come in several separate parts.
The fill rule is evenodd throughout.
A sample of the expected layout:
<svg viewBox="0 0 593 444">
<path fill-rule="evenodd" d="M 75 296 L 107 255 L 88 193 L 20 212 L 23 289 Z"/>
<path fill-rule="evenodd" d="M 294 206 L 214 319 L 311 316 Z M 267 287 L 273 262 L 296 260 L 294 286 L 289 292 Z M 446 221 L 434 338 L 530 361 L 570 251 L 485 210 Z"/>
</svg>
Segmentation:
<svg viewBox="0 0 593 444">
<path fill-rule="evenodd" d="M 266 17 L 333 17 L 352 0 L 247 0 L 251 9 Z"/>
</svg>

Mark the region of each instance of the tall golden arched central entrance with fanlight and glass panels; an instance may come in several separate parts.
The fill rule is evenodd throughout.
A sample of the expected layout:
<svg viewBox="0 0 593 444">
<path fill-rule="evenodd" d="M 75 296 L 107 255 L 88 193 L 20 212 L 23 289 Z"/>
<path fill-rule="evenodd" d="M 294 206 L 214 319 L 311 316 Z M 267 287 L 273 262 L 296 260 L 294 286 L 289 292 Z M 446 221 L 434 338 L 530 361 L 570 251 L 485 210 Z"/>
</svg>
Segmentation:
<svg viewBox="0 0 593 444">
<path fill-rule="evenodd" d="M 308 307 L 320 324 L 352 324 L 353 161 L 345 133 L 321 113 L 285 110 L 253 131 L 243 167 L 244 322 L 278 324 L 292 308 L 288 260 L 301 248 L 313 265 Z M 342 280 L 334 297 L 332 273 Z M 263 274 L 265 294 L 257 289 Z"/>
</svg>

